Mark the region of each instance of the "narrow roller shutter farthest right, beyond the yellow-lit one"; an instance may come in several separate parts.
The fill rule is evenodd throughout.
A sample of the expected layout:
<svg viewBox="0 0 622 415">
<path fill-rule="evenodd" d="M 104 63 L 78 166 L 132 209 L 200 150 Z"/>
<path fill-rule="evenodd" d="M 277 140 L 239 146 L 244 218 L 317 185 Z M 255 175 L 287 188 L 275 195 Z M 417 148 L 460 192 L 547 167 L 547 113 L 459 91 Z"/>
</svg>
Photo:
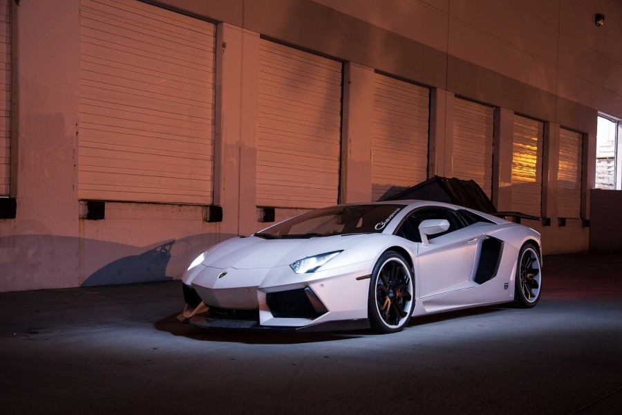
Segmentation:
<svg viewBox="0 0 622 415">
<path fill-rule="evenodd" d="M 581 218 L 581 165 L 583 134 L 559 130 L 557 170 L 557 214 L 562 218 Z"/>
</svg>

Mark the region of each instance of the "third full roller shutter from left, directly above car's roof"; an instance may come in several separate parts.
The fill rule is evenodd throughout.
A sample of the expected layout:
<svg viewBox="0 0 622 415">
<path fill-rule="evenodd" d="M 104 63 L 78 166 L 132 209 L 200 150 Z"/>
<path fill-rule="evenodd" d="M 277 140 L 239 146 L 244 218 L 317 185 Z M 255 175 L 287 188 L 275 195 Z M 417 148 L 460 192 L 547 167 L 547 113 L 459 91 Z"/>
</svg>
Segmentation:
<svg viewBox="0 0 622 415">
<path fill-rule="evenodd" d="M 428 178 L 429 114 L 429 89 L 375 74 L 372 200 Z"/>
</svg>

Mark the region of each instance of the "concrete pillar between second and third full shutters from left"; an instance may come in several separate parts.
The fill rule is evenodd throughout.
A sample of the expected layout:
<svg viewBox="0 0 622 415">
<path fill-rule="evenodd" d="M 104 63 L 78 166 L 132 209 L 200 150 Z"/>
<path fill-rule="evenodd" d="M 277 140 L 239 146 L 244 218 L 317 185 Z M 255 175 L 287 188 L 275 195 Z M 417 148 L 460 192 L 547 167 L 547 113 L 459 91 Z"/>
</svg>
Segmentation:
<svg viewBox="0 0 622 415">
<path fill-rule="evenodd" d="M 344 64 L 341 133 L 342 203 L 371 200 L 371 147 L 374 113 L 374 70 Z"/>
</svg>

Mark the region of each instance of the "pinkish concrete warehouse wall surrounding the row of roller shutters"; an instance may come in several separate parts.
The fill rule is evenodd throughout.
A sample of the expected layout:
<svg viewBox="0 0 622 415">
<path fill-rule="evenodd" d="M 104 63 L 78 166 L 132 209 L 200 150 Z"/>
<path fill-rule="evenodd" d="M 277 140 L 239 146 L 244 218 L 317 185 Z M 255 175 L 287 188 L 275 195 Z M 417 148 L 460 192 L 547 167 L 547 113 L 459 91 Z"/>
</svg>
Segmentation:
<svg viewBox="0 0 622 415">
<path fill-rule="evenodd" d="M 77 117 L 79 0 L 12 3 L 11 196 L 0 219 L 0 291 L 178 278 L 200 250 L 263 223 L 256 219 L 257 56 L 260 36 L 345 62 L 341 201 L 370 198 L 370 97 L 374 71 L 431 87 L 429 175 L 451 176 L 455 96 L 496 109 L 496 185 L 511 203 L 513 113 L 546 122 L 546 253 L 588 249 L 590 228 L 560 226 L 556 134 L 585 134 L 583 217 L 594 183 L 596 114 L 622 118 L 622 3 L 616 0 L 162 0 L 218 23 L 214 204 L 106 203 L 106 219 L 79 219 Z M 165 4 L 164 4 L 165 3 Z M 594 13 L 606 15 L 594 26 Z M 594 203 L 591 204 L 592 209 Z M 505 207 L 505 208 L 504 208 Z M 284 219 L 298 210 L 277 210 Z M 600 211 L 598 211 L 600 212 Z"/>
</svg>

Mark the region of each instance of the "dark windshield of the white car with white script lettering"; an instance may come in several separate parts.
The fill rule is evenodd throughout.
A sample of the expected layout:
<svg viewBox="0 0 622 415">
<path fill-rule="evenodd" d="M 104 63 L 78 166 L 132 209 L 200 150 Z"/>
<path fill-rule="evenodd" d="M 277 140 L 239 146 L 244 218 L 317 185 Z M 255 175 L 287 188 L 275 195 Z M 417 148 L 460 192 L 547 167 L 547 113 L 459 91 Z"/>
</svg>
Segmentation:
<svg viewBox="0 0 622 415">
<path fill-rule="evenodd" d="M 255 236 L 274 238 L 310 238 L 353 233 L 379 233 L 404 205 L 341 205 L 312 210 Z"/>
</svg>

